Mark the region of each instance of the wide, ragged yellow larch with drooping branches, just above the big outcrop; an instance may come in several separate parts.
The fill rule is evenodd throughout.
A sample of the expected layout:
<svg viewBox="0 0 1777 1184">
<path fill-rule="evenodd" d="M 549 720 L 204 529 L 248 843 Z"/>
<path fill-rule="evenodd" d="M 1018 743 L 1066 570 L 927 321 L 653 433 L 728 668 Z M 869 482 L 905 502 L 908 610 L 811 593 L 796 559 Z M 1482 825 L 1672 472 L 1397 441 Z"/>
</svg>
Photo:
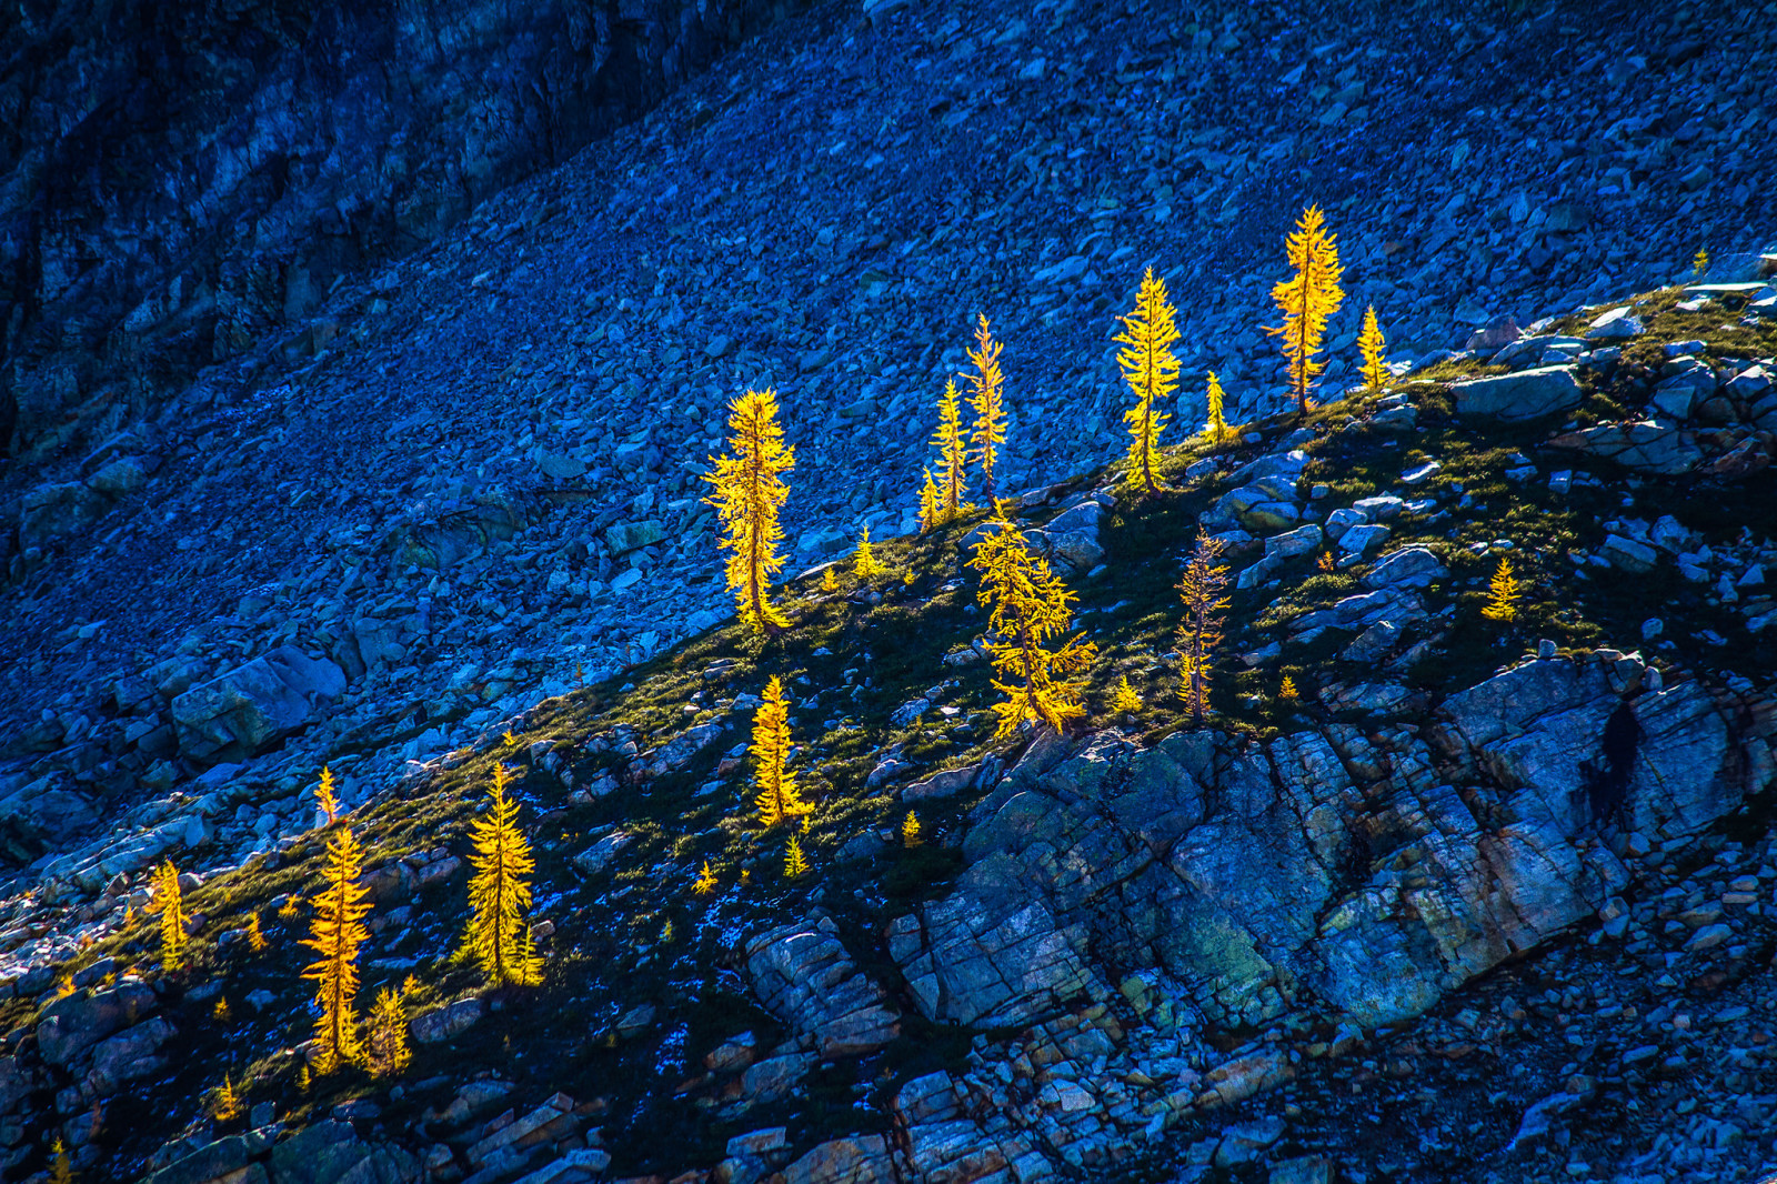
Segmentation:
<svg viewBox="0 0 1777 1184">
<path fill-rule="evenodd" d="M 1068 720 L 1086 715 L 1084 670 L 1098 656 L 1091 642 L 1070 638 L 1057 649 L 1048 644 L 1068 631 L 1075 596 L 1031 555 L 1018 528 L 1004 517 L 976 546 L 968 565 L 981 572 L 977 601 L 988 612 L 988 656 L 993 690 L 1006 702 L 993 704 L 999 716 L 995 740 L 1009 736 L 1024 720 L 1047 724 L 1057 732 Z M 1011 679 L 1016 679 L 1013 683 Z"/>
</svg>

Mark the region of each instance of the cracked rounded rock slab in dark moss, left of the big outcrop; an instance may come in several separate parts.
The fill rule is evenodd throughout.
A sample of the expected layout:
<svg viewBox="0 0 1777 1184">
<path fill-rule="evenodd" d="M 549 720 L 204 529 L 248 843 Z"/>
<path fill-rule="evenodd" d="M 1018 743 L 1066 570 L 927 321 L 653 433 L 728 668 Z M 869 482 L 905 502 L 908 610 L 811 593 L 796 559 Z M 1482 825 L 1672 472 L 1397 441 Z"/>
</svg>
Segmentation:
<svg viewBox="0 0 1777 1184">
<path fill-rule="evenodd" d="M 839 939 L 787 924 L 746 942 L 746 976 L 759 1003 L 823 1058 L 862 1056 L 901 1033 L 901 1015 L 858 971 Z"/>
</svg>

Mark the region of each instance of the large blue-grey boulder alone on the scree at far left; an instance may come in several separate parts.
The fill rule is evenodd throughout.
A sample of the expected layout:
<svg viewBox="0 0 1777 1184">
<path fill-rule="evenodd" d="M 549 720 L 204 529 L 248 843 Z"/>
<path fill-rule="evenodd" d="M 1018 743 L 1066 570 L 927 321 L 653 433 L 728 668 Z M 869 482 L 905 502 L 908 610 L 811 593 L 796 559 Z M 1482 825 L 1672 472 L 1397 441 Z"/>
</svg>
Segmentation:
<svg viewBox="0 0 1777 1184">
<path fill-rule="evenodd" d="M 343 692 L 336 663 L 279 645 L 172 700 L 179 750 L 206 764 L 242 761 L 313 724 Z"/>
</svg>

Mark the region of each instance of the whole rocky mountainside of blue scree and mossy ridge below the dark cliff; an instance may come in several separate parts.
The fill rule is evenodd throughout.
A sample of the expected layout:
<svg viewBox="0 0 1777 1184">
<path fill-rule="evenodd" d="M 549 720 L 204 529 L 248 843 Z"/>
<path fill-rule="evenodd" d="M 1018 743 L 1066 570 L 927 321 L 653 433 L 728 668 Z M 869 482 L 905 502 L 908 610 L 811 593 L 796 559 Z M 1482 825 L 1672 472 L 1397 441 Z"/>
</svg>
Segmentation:
<svg viewBox="0 0 1777 1184">
<path fill-rule="evenodd" d="M 814 4 L 430 245 L 366 231 L 188 388 L 39 404 L 0 487 L 7 1179 L 52 1140 L 156 1184 L 1777 1170 L 1777 5 L 1411 16 Z M 1310 203 L 1345 304 L 1297 416 L 1263 325 Z M 1150 263 L 1183 373 L 1143 498 L 1109 338 Z M 984 512 L 915 530 L 977 315 L 1006 510 L 1098 647 L 1066 736 L 993 740 Z M 800 574 L 753 638 L 700 476 L 766 386 Z M 869 583 L 825 567 L 864 526 Z M 1194 724 L 1201 535 L 1235 587 Z M 801 830 L 752 809 L 771 677 Z M 455 953 L 496 764 L 537 987 Z M 323 766 L 393 1083 L 306 1067 Z"/>
</svg>

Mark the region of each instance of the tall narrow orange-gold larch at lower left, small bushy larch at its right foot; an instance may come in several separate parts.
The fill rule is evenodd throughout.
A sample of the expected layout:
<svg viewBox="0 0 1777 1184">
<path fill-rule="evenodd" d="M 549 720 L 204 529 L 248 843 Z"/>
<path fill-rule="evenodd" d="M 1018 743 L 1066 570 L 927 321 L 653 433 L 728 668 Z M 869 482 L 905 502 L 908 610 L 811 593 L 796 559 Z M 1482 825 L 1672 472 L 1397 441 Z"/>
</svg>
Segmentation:
<svg viewBox="0 0 1777 1184">
<path fill-rule="evenodd" d="M 315 1022 L 315 1072 L 331 1074 L 359 1058 L 357 1045 L 357 949 L 370 940 L 364 914 L 370 889 L 364 875 L 364 848 L 352 827 L 339 827 L 327 839 L 327 885 L 315 896 L 315 916 L 302 944 L 320 955 L 302 971 L 315 981 L 315 1003 L 322 1015 Z"/>
</svg>

